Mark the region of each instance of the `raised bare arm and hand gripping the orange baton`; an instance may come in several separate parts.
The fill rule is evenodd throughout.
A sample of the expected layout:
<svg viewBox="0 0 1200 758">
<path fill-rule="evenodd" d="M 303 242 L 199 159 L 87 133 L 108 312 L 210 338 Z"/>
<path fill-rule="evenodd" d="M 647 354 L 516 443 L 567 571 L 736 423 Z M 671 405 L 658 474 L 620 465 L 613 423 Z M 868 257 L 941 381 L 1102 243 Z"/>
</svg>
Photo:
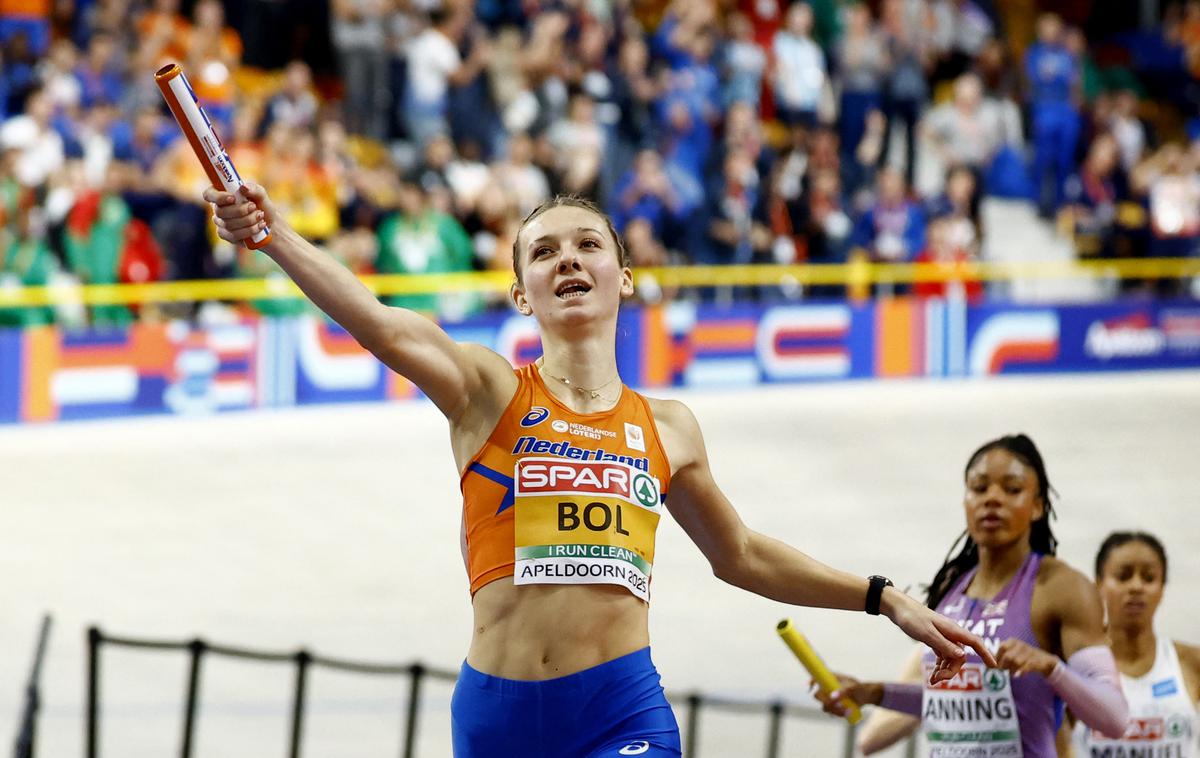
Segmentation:
<svg viewBox="0 0 1200 758">
<path fill-rule="evenodd" d="M 515 379 L 503 357 L 479 345 L 460 345 L 424 315 L 383 305 L 346 266 L 296 234 L 275 211 L 263 187 L 247 184 L 242 194 L 239 198 L 212 187 L 204 191 L 221 239 L 240 245 L 269 225 L 272 240 L 264 252 L 318 308 L 389 368 L 412 380 L 451 422 L 472 402 L 494 393 L 503 403 L 504 390 L 511 395 Z"/>
</svg>

